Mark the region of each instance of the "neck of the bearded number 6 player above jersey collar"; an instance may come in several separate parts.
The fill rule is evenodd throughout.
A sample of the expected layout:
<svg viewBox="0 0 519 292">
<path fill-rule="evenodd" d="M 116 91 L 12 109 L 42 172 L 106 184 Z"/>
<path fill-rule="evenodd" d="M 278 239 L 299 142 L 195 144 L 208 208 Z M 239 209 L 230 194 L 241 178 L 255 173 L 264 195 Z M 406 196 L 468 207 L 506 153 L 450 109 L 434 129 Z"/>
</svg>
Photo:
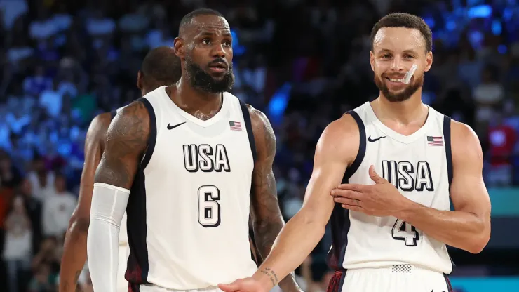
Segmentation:
<svg viewBox="0 0 519 292">
<path fill-rule="evenodd" d="M 175 105 L 199 119 L 213 117 L 220 111 L 223 102 L 222 93 L 201 91 L 184 79 L 180 79 L 175 86 L 170 86 L 168 95 Z"/>
</svg>

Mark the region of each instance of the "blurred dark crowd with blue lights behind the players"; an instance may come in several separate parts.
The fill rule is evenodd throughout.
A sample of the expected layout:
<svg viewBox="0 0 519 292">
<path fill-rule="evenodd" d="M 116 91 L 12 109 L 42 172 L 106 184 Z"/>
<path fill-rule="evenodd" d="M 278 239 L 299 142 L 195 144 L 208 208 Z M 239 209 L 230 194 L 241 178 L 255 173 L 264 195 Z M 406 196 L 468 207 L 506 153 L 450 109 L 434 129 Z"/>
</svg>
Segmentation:
<svg viewBox="0 0 519 292">
<path fill-rule="evenodd" d="M 369 34 L 390 12 L 433 30 L 424 102 L 478 133 L 488 186 L 519 185 L 518 1 L 0 0 L 0 291 L 56 291 L 90 120 L 140 97 L 144 55 L 202 6 L 231 25 L 233 93 L 274 126 L 285 219 L 325 126 L 377 97 Z M 328 236 L 297 271 L 305 291 L 325 291 Z"/>
</svg>

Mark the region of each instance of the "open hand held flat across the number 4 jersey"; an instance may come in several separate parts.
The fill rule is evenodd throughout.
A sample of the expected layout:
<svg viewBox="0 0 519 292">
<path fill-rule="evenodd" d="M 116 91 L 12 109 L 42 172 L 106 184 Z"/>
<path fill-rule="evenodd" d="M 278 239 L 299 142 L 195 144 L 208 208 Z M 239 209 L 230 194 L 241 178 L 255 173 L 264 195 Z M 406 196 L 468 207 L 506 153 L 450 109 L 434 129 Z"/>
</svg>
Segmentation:
<svg viewBox="0 0 519 292">
<path fill-rule="evenodd" d="M 397 217 L 410 200 L 400 194 L 389 181 L 381 178 L 375 172 L 375 166 L 370 166 L 369 174 L 375 185 L 339 185 L 331 192 L 335 202 L 343 208 L 367 215 Z"/>
</svg>

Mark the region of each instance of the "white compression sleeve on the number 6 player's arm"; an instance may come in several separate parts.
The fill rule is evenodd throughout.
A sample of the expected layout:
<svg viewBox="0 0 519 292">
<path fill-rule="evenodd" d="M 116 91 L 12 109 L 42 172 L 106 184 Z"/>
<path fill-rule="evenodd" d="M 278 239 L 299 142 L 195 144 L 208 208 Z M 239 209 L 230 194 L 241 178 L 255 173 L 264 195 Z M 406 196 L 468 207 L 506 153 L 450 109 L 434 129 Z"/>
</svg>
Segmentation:
<svg viewBox="0 0 519 292">
<path fill-rule="evenodd" d="M 130 191 L 95 183 L 88 227 L 88 270 L 94 291 L 115 292 L 119 265 L 119 228 Z"/>
</svg>

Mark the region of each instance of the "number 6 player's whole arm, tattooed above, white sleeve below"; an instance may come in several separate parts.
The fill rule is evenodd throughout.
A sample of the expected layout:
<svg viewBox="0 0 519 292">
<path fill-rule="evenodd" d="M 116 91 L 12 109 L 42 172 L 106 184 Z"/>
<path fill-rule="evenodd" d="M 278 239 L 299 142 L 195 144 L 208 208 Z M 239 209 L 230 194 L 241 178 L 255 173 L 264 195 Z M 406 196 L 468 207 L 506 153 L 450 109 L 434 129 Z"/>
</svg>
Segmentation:
<svg viewBox="0 0 519 292">
<path fill-rule="evenodd" d="M 88 267 L 95 291 L 116 290 L 119 228 L 129 189 L 147 147 L 149 122 L 146 106 L 135 101 L 116 115 L 106 134 L 105 152 L 95 173 L 87 239 Z"/>
</svg>

